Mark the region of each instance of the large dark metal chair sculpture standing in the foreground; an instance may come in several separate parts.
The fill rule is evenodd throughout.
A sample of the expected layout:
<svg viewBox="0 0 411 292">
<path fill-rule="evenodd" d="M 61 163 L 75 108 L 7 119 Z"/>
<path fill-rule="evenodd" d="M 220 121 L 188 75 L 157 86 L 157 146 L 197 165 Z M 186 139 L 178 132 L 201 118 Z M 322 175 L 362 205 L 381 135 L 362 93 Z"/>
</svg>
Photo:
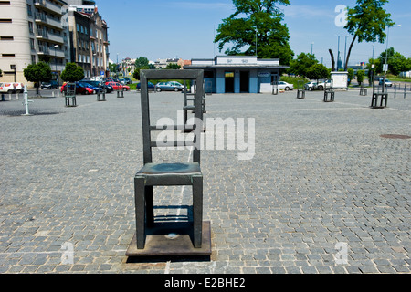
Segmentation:
<svg viewBox="0 0 411 292">
<path fill-rule="evenodd" d="M 173 141 L 174 146 L 194 146 L 193 162 L 153 163 L 152 148 L 162 147 L 161 143 L 152 141 L 152 131 L 165 130 L 150 123 L 148 79 L 195 79 L 196 84 L 203 84 L 203 70 L 142 70 L 141 102 L 142 102 L 142 139 L 143 167 L 134 177 L 136 245 L 144 249 L 146 244 L 146 227 L 154 227 L 153 186 L 191 185 L 193 189 L 193 246 L 202 247 L 203 232 L 203 174 L 200 168 L 200 147 L 202 125 L 195 124 L 193 141 Z M 195 93 L 195 120 L 202 123 L 204 87 L 197 87 Z M 180 130 L 185 125 L 176 125 Z M 170 141 L 167 141 L 170 142 Z M 168 144 L 168 143 L 167 143 Z M 191 144 L 191 145 L 190 145 Z M 197 147 L 198 146 L 198 147 Z M 169 248 L 169 247 L 168 247 Z"/>
</svg>

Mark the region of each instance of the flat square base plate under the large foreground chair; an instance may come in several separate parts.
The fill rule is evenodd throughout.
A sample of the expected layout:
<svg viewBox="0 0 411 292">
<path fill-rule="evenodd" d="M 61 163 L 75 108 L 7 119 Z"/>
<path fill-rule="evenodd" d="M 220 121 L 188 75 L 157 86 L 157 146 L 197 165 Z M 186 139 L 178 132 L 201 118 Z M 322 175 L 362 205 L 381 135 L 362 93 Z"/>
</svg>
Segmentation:
<svg viewBox="0 0 411 292">
<path fill-rule="evenodd" d="M 154 224 L 146 229 L 145 246 L 137 248 L 134 234 L 127 249 L 127 256 L 190 256 L 211 255 L 211 228 L 209 221 L 203 221 L 201 248 L 193 246 L 193 226 L 189 222 Z"/>
</svg>

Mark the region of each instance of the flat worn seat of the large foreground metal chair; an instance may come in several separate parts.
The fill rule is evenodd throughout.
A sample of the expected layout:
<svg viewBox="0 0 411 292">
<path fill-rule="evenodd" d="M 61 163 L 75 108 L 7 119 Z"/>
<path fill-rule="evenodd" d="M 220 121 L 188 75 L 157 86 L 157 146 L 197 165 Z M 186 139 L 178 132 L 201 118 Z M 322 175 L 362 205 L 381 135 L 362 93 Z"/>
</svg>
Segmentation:
<svg viewBox="0 0 411 292">
<path fill-rule="evenodd" d="M 137 175 L 199 175 L 199 163 L 146 163 Z"/>
</svg>

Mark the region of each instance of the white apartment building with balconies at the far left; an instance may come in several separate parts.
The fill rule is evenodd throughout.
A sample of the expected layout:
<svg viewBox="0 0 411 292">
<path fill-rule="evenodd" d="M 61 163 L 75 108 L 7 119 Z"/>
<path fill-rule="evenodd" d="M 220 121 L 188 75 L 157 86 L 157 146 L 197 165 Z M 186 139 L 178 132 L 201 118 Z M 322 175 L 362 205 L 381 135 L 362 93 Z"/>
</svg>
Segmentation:
<svg viewBox="0 0 411 292">
<path fill-rule="evenodd" d="M 54 78 L 69 59 L 68 27 L 60 0 L 0 1 L 0 68 L 3 81 L 26 82 L 23 70 L 46 61 Z"/>
</svg>

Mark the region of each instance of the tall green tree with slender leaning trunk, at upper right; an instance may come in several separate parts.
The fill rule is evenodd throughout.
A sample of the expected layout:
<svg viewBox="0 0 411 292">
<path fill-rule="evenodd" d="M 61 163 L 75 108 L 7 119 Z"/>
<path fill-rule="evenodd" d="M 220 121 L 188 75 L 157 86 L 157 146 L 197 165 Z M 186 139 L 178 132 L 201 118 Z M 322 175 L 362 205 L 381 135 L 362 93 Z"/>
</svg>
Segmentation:
<svg viewBox="0 0 411 292">
<path fill-rule="evenodd" d="M 353 41 L 348 49 L 344 70 L 348 68 L 348 61 L 351 56 L 353 44 L 356 40 L 359 43 L 376 42 L 384 43 L 385 27 L 394 26 L 391 14 L 386 13 L 384 5 L 388 0 L 357 0 L 357 5 L 348 8 L 347 25 L 344 27 L 353 36 Z"/>
</svg>

